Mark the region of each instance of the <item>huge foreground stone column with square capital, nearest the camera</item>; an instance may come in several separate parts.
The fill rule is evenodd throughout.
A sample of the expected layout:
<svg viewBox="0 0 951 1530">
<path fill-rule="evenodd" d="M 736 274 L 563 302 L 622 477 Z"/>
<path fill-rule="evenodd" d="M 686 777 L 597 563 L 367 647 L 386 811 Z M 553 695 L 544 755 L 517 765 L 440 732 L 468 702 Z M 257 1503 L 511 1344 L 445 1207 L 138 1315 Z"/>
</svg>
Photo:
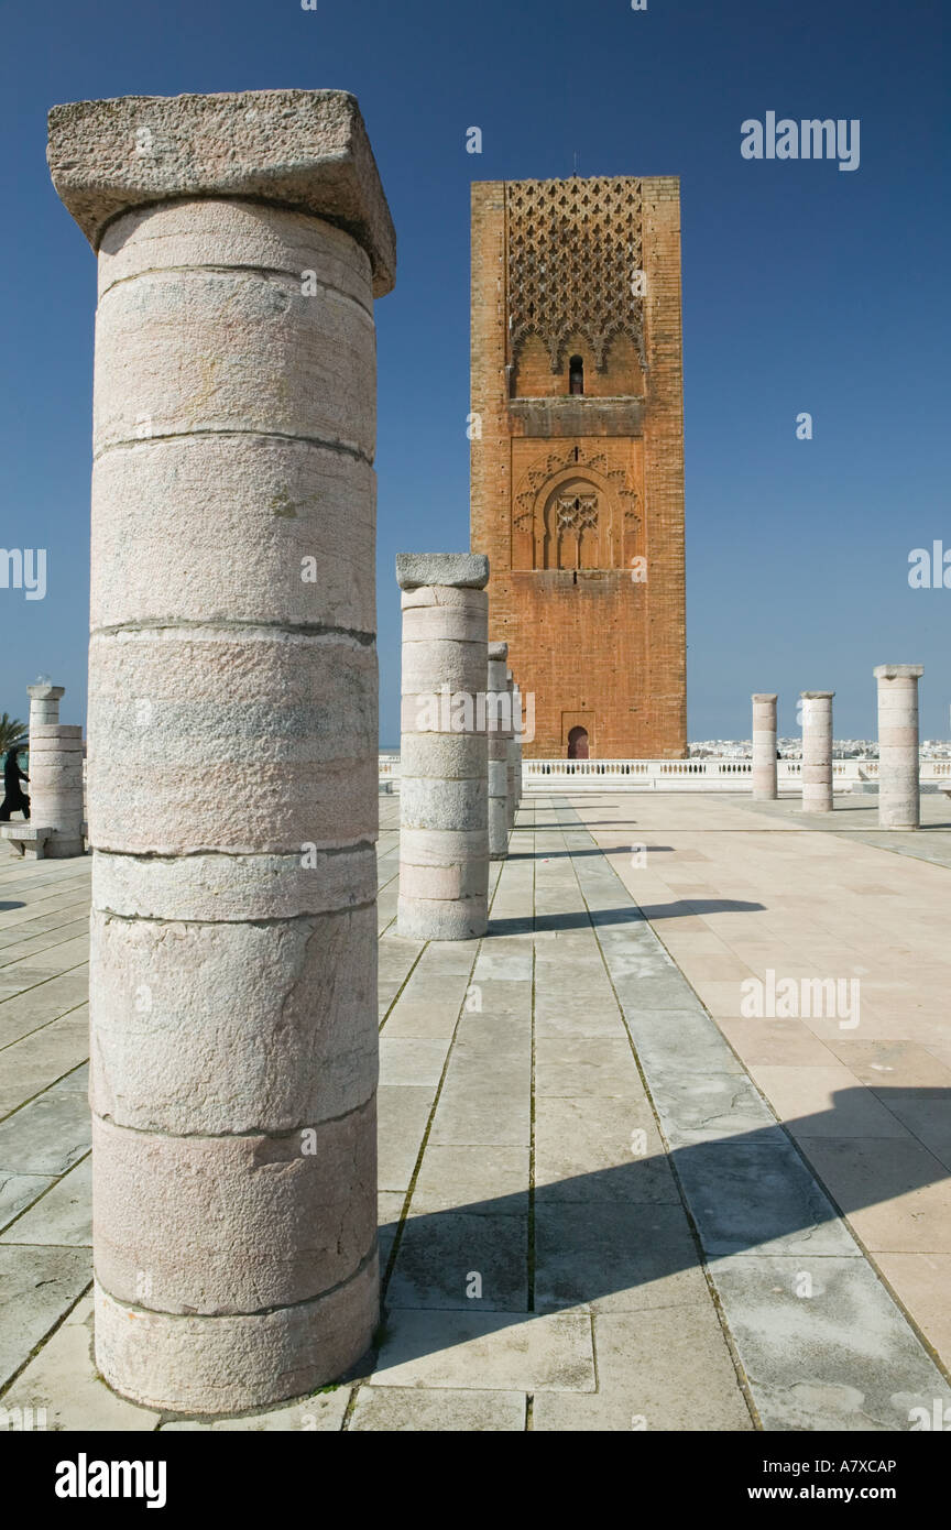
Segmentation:
<svg viewBox="0 0 951 1530">
<path fill-rule="evenodd" d="M 95 1354 L 150 1408 L 333 1380 L 378 1322 L 373 297 L 353 96 L 54 107 L 99 256 Z"/>
</svg>

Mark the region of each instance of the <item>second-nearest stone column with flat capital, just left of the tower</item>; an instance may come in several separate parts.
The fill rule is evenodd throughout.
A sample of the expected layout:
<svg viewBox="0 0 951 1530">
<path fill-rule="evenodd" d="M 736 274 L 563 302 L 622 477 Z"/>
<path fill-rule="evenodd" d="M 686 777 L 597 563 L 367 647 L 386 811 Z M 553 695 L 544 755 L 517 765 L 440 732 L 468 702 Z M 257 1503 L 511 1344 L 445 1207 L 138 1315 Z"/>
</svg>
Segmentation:
<svg viewBox="0 0 951 1530">
<path fill-rule="evenodd" d="M 398 930 L 485 935 L 489 808 L 485 676 L 489 560 L 404 554 Z"/>
</svg>

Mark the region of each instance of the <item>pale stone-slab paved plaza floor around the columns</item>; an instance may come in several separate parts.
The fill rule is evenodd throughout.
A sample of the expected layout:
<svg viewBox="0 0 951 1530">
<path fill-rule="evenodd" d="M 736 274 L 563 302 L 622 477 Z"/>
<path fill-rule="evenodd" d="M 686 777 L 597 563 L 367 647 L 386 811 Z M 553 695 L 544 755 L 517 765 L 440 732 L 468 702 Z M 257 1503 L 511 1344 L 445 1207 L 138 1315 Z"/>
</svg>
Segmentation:
<svg viewBox="0 0 951 1530">
<path fill-rule="evenodd" d="M 50 1429 L 907 1431 L 951 1403 L 951 814 L 531 796 L 482 941 L 396 935 L 375 1365 L 242 1420 L 90 1360 L 90 860 L 0 861 L 0 1406 Z M 858 978 L 841 1016 L 742 984 Z M 781 1125 L 780 1125 L 781 1123 Z M 838 1210 L 836 1210 L 838 1207 Z"/>
</svg>

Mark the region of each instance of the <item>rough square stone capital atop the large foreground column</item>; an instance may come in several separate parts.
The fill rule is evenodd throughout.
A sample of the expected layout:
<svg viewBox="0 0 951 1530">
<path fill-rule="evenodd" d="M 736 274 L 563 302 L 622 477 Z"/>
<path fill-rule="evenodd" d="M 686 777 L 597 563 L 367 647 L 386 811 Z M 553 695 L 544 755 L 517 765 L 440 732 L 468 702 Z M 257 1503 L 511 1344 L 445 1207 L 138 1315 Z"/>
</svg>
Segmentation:
<svg viewBox="0 0 951 1530">
<path fill-rule="evenodd" d="M 393 286 L 396 234 L 356 98 L 347 90 L 72 101 L 49 113 L 54 185 L 93 249 L 151 202 L 245 197 L 346 228 L 373 292 Z"/>
</svg>

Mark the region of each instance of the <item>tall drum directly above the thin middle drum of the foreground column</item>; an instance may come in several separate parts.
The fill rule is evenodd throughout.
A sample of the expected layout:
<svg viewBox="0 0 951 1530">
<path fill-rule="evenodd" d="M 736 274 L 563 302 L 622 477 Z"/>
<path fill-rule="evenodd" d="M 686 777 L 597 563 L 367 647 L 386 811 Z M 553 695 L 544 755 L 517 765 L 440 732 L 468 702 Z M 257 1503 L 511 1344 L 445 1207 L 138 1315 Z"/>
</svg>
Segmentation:
<svg viewBox="0 0 951 1530">
<path fill-rule="evenodd" d="M 370 646 L 277 630 L 93 636 L 89 719 L 96 848 L 295 854 L 375 838 Z"/>
</svg>

